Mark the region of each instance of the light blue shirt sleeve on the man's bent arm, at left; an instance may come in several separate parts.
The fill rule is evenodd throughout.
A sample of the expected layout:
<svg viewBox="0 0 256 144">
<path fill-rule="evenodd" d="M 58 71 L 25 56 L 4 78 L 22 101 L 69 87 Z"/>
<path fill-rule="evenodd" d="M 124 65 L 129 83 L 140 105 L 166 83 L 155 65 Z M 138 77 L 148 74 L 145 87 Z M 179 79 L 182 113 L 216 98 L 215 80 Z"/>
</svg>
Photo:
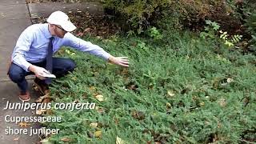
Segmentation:
<svg viewBox="0 0 256 144">
<path fill-rule="evenodd" d="M 28 68 L 32 65 L 30 62 L 26 61 L 26 52 L 30 50 L 30 46 L 33 42 L 33 34 L 29 32 L 28 29 L 24 30 L 14 48 L 11 60 L 16 65 L 21 66 L 22 69 L 29 72 Z"/>
</svg>

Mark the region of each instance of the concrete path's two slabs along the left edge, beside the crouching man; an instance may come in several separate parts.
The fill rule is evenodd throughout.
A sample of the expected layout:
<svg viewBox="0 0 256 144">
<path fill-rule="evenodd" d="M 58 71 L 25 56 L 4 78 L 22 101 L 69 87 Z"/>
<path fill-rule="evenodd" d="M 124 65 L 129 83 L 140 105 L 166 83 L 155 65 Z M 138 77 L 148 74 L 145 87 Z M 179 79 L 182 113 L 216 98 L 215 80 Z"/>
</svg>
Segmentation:
<svg viewBox="0 0 256 144">
<path fill-rule="evenodd" d="M 31 25 L 30 14 L 26 5 L 26 0 L 2 0 L 0 5 L 0 143 L 8 144 L 30 144 L 38 142 L 38 135 L 28 136 L 26 134 L 5 134 L 8 126 L 12 129 L 19 129 L 20 126 L 14 122 L 6 122 L 6 115 L 21 117 L 31 116 L 32 111 L 27 110 L 3 110 L 6 102 L 20 102 L 18 99 L 18 86 L 6 75 L 10 54 L 14 50 L 18 36 L 27 26 Z M 30 94 L 34 102 L 38 94 L 31 90 Z M 30 127 L 30 126 L 29 126 Z M 31 125 L 31 127 L 38 127 Z M 28 129 L 29 130 L 29 129 Z"/>
</svg>

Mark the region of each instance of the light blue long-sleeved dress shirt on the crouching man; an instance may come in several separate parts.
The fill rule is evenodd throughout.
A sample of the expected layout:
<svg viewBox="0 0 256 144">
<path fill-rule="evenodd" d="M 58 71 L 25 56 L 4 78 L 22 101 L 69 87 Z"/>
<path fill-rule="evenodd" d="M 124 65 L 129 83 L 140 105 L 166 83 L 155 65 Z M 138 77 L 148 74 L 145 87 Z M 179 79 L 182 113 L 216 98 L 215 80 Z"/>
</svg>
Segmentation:
<svg viewBox="0 0 256 144">
<path fill-rule="evenodd" d="M 28 68 L 32 65 L 30 62 L 42 62 L 46 59 L 50 37 L 52 35 L 48 30 L 48 23 L 34 24 L 27 27 L 18 38 L 11 57 L 12 62 L 21 66 L 22 69 L 29 71 Z M 110 57 L 110 54 L 101 47 L 77 38 L 71 33 L 66 33 L 64 38 L 54 36 L 54 53 L 61 46 L 70 46 L 76 50 L 88 52 L 106 60 Z"/>
</svg>

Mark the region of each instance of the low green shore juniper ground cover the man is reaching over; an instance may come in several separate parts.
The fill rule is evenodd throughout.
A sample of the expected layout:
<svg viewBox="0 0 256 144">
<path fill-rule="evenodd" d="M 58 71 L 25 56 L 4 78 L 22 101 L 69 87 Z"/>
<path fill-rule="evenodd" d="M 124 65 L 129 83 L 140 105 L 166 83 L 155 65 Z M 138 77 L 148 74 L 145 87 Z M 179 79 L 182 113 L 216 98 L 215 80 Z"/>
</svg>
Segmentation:
<svg viewBox="0 0 256 144">
<path fill-rule="evenodd" d="M 163 36 L 85 38 L 128 56 L 129 69 L 61 50 L 58 56 L 78 67 L 54 82 L 54 102 L 96 102 L 98 110 L 53 110 L 62 122 L 46 123 L 61 130 L 50 142 L 115 143 L 117 136 L 127 143 L 255 142 L 255 56 L 186 31 Z"/>
</svg>

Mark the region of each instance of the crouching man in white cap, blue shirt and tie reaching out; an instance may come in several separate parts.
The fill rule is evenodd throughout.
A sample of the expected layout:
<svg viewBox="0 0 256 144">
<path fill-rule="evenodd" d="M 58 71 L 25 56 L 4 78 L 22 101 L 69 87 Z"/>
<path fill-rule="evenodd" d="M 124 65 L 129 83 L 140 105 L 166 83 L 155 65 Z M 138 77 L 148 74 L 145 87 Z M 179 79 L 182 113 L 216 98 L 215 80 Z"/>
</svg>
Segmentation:
<svg viewBox="0 0 256 144">
<path fill-rule="evenodd" d="M 70 34 L 76 26 L 62 11 L 50 14 L 47 22 L 27 27 L 18 38 L 14 48 L 8 74 L 20 89 L 18 95 L 20 100 L 30 100 L 26 75 L 35 74 L 34 83 L 42 93 L 46 93 L 51 79 L 43 77 L 44 74 L 52 73 L 59 78 L 74 70 L 75 63 L 72 59 L 52 57 L 61 46 L 70 46 L 76 50 L 102 57 L 114 64 L 129 66 L 126 57 L 114 57 L 101 47 Z"/>
</svg>

